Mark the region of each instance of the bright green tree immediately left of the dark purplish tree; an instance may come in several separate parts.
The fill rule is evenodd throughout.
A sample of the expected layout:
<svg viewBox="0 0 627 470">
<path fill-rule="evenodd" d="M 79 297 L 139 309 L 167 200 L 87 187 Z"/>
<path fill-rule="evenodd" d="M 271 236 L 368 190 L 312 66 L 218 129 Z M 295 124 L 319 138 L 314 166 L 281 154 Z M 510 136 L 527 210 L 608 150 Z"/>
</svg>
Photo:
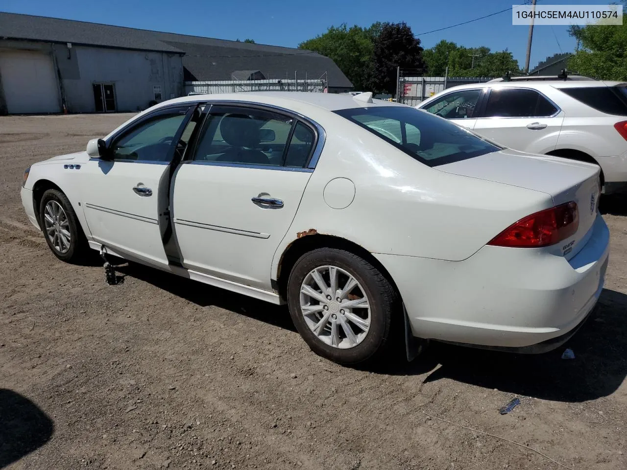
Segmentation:
<svg viewBox="0 0 627 470">
<path fill-rule="evenodd" d="M 346 23 L 331 26 L 327 32 L 298 44 L 298 48 L 315 51 L 332 59 L 352 82 L 356 90 L 368 88 L 374 46 L 372 41 L 378 34 L 377 23 L 371 28 L 352 26 Z M 374 29 L 373 29 L 374 28 Z"/>
</svg>

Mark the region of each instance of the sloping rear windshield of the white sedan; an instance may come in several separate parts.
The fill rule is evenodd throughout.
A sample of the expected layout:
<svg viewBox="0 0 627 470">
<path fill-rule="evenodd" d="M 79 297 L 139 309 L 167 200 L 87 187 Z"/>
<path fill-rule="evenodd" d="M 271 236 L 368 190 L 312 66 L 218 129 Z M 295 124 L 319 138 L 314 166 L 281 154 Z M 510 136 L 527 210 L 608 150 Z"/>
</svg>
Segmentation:
<svg viewBox="0 0 627 470">
<path fill-rule="evenodd" d="M 335 111 L 430 167 L 502 150 L 453 123 L 405 106 Z"/>
</svg>

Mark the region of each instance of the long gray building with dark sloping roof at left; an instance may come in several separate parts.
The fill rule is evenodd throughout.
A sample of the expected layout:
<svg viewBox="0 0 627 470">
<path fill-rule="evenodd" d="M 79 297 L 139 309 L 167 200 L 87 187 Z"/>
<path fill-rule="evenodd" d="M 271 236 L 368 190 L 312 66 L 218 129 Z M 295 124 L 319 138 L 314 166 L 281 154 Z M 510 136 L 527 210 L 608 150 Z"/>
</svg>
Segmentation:
<svg viewBox="0 0 627 470">
<path fill-rule="evenodd" d="M 136 111 L 183 95 L 186 81 L 295 76 L 352 89 L 312 51 L 0 13 L 0 114 Z"/>
</svg>

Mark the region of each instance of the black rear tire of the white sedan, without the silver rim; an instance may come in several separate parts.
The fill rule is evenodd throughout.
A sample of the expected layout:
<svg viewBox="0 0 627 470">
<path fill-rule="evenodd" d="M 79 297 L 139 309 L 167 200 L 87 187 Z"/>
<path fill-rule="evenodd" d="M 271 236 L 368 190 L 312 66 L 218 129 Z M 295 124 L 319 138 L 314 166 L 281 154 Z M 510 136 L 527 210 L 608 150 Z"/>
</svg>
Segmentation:
<svg viewBox="0 0 627 470">
<path fill-rule="evenodd" d="M 353 276 L 370 304 L 370 327 L 366 337 L 351 348 L 340 349 L 320 340 L 307 325 L 300 307 L 300 288 L 307 275 L 320 266 L 337 266 Z M 387 350 L 393 316 L 398 313 L 398 295 L 379 269 L 365 259 L 343 249 L 319 248 L 303 254 L 294 264 L 287 287 L 287 303 L 292 321 L 307 345 L 318 355 L 340 364 L 372 362 Z"/>
</svg>

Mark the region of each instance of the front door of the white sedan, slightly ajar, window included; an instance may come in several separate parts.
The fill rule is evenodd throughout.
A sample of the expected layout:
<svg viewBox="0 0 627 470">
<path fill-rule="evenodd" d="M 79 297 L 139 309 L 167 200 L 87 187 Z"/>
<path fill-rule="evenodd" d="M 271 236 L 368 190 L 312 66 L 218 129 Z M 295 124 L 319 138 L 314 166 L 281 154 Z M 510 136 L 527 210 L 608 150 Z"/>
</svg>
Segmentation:
<svg viewBox="0 0 627 470">
<path fill-rule="evenodd" d="M 167 266 L 169 169 L 193 107 L 151 113 L 107 142 L 110 159 L 81 170 L 83 211 L 93 240 L 129 258 Z"/>
</svg>

